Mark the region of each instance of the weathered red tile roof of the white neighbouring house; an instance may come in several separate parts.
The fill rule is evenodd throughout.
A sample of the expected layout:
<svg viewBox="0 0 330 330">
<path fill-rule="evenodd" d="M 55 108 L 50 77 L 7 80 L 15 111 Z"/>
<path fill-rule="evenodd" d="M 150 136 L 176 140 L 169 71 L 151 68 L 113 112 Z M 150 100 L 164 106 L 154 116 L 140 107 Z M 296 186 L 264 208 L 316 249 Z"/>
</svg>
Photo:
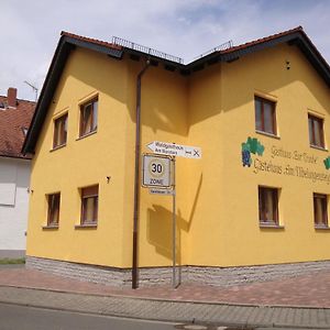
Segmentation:
<svg viewBox="0 0 330 330">
<path fill-rule="evenodd" d="M 0 96 L 0 103 L 7 103 L 7 97 Z M 21 153 L 25 139 L 23 129 L 29 129 L 35 102 L 18 99 L 16 108 L 0 108 L 0 156 L 31 158 Z"/>
</svg>

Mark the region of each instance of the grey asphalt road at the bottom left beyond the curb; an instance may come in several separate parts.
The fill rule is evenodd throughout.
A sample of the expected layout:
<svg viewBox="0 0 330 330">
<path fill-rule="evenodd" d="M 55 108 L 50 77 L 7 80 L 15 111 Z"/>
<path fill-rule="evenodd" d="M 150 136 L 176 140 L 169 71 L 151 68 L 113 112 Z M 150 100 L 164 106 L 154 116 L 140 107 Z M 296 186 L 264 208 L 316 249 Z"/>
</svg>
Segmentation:
<svg viewBox="0 0 330 330">
<path fill-rule="evenodd" d="M 1 330 L 174 330 L 175 324 L 0 302 Z"/>
</svg>

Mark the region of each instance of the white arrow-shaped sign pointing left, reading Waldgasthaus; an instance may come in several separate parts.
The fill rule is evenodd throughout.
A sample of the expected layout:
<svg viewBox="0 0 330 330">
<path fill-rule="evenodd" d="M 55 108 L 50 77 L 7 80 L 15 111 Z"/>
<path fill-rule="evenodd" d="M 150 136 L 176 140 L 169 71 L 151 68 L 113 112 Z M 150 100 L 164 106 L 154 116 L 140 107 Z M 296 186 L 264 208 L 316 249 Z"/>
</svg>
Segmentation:
<svg viewBox="0 0 330 330">
<path fill-rule="evenodd" d="M 146 146 L 156 154 L 196 160 L 201 158 L 201 148 L 197 146 L 182 145 L 160 141 L 153 141 Z"/>
</svg>

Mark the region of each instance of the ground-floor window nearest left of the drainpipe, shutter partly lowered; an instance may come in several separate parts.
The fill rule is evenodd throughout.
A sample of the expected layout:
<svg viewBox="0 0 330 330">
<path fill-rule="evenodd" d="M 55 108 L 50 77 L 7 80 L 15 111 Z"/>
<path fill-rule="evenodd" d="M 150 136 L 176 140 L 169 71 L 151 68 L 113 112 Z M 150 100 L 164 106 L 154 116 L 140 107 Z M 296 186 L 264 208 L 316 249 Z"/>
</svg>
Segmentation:
<svg viewBox="0 0 330 330">
<path fill-rule="evenodd" d="M 99 186 L 81 189 L 81 224 L 96 224 L 98 221 Z"/>
</svg>

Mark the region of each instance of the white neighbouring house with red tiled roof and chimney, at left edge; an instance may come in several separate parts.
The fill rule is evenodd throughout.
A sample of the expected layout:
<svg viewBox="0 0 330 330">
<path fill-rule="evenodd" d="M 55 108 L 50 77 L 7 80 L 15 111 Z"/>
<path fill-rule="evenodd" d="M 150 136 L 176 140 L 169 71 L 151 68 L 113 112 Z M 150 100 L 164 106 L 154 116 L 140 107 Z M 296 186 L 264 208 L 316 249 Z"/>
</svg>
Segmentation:
<svg viewBox="0 0 330 330">
<path fill-rule="evenodd" d="M 35 102 L 0 96 L 0 257 L 25 255 L 31 156 L 21 153 Z"/>
</svg>

